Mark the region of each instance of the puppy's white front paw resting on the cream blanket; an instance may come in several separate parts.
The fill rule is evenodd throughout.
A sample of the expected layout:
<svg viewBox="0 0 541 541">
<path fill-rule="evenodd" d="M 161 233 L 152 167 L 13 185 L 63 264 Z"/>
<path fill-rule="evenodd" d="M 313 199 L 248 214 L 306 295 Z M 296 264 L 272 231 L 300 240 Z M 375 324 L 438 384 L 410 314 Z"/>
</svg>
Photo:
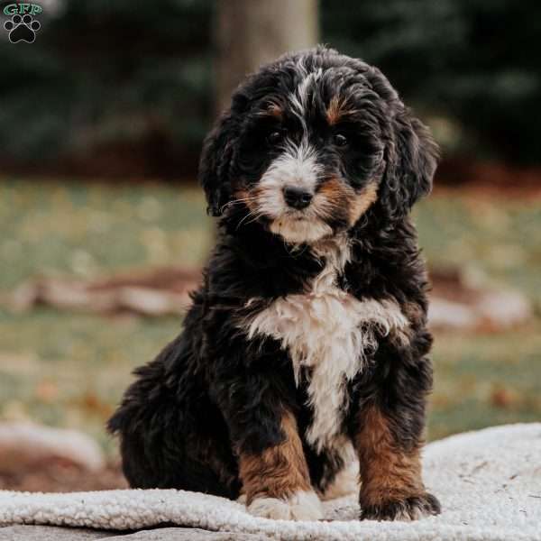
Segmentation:
<svg viewBox="0 0 541 541">
<path fill-rule="evenodd" d="M 316 492 L 298 491 L 291 496 L 267 498 L 261 496 L 252 500 L 248 511 L 255 517 L 274 518 L 275 520 L 319 520 L 323 518 L 321 502 Z"/>
</svg>

